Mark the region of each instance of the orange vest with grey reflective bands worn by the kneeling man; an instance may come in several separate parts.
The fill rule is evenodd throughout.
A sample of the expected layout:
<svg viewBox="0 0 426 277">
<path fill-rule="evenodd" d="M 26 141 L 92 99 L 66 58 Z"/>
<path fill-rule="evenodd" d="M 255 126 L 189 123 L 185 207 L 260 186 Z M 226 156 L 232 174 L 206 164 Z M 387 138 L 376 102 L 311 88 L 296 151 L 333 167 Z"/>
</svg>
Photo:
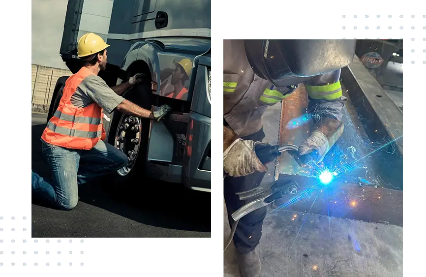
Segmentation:
<svg viewBox="0 0 426 277">
<path fill-rule="evenodd" d="M 64 148 L 90 150 L 99 139 L 105 139 L 102 108 L 94 102 L 85 108 L 71 104 L 72 94 L 89 75 L 94 73 L 82 67 L 66 80 L 58 109 L 47 123 L 42 140 Z"/>
</svg>

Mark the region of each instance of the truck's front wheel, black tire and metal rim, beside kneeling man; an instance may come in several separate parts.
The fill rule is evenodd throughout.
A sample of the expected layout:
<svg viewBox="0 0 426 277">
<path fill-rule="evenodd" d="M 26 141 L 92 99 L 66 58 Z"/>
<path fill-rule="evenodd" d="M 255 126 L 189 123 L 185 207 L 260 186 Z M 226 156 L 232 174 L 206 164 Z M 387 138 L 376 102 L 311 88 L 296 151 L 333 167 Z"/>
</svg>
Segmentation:
<svg viewBox="0 0 426 277">
<path fill-rule="evenodd" d="M 124 98 L 151 110 L 151 83 L 140 84 L 125 93 Z M 130 181 L 145 173 L 150 120 L 114 113 L 109 142 L 127 155 L 129 163 L 119 169 L 116 179 Z"/>
</svg>

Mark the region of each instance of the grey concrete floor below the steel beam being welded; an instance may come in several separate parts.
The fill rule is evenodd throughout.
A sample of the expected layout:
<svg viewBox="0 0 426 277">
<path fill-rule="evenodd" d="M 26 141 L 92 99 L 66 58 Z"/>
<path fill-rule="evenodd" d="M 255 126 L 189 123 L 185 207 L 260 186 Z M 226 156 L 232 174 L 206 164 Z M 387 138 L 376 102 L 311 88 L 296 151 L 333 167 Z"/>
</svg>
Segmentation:
<svg viewBox="0 0 426 277">
<path fill-rule="evenodd" d="M 225 220 L 224 238 L 229 233 Z M 405 276 L 405 230 L 399 226 L 278 210 L 265 218 L 262 235 L 261 277 Z M 231 244 L 224 253 L 224 277 L 240 277 L 235 251 Z"/>
</svg>

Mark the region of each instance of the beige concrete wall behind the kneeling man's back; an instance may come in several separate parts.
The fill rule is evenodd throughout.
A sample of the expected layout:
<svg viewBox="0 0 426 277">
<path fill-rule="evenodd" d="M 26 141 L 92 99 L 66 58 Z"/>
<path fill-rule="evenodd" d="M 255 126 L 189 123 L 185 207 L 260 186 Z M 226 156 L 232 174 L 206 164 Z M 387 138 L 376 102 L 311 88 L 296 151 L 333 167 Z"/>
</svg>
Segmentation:
<svg viewBox="0 0 426 277">
<path fill-rule="evenodd" d="M 56 81 L 61 76 L 70 76 L 71 74 L 71 71 L 67 69 L 31 64 L 32 111 L 47 112 Z"/>
</svg>

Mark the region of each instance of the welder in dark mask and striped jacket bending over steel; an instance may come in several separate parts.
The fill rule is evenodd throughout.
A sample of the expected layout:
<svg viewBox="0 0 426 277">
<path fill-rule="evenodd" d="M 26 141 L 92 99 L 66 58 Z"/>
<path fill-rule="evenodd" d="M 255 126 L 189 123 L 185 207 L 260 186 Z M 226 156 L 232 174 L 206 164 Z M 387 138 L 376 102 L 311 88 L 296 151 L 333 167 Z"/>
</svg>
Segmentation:
<svg viewBox="0 0 426 277">
<path fill-rule="evenodd" d="M 299 154 L 319 162 L 341 135 L 341 110 L 347 98 L 342 96 L 339 68 L 347 64 L 333 68 L 318 68 L 316 64 L 316 72 L 331 72 L 300 78 L 286 70 L 288 66 L 281 55 L 284 44 L 282 40 L 223 40 L 223 165 L 229 176 L 222 185 L 230 224 L 232 213 L 248 202 L 239 200 L 236 192 L 260 185 L 267 170 L 253 148 L 265 137 L 262 115 L 268 106 L 280 102 L 304 82 L 310 113 L 318 114 L 320 120 L 299 147 Z M 315 49 L 311 54 L 321 52 Z M 336 59 L 338 54 L 334 52 L 330 58 Z M 261 238 L 265 215 L 266 207 L 245 215 L 237 225 L 234 245 L 243 277 L 260 274 L 260 260 L 254 249 Z"/>
</svg>

